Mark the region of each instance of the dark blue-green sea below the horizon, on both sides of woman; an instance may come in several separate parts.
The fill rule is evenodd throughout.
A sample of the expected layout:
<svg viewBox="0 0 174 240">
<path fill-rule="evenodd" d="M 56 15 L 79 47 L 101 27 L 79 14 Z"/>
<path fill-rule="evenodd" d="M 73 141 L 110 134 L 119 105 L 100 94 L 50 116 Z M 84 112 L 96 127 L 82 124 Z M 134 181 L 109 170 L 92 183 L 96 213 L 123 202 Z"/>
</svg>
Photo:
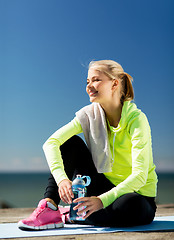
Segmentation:
<svg viewBox="0 0 174 240">
<path fill-rule="evenodd" d="M 157 204 L 174 203 L 174 173 L 157 173 Z M 43 198 L 49 173 L 0 173 L 0 205 L 36 207 Z"/>
</svg>

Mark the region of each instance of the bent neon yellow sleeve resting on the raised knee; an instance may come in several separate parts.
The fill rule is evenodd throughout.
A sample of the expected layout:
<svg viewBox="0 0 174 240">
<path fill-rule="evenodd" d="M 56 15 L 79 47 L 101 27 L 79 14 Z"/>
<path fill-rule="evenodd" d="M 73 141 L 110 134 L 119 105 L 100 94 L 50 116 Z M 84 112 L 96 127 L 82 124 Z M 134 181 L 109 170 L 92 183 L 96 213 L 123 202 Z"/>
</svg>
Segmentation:
<svg viewBox="0 0 174 240">
<path fill-rule="evenodd" d="M 43 150 L 51 173 L 57 185 L 64 179 L 68 179 L 63 165 L 60 146 L 69 138 L 82 132 L 81 125 L 75 117 L 71 122 L 53 133 L 43 145 Z"/>
</svg>

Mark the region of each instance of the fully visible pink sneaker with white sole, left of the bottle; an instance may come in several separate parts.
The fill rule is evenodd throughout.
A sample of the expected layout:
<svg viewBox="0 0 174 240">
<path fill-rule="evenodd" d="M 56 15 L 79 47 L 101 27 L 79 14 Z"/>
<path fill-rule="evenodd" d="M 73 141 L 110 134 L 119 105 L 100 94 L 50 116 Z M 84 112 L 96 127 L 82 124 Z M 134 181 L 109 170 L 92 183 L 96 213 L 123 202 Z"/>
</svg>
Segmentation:
<svg viewBox="0 0 174 240">
<path fill-rule="evenodd" d="M 50 204 L 49 204 L 50 205 Z M 26 219 L 18 222 L 21 230 L 43 230 L 64 227 L 59 209 L 48 207 L 47 201 L 42 199 L 34 212 Z"/>
</svg>

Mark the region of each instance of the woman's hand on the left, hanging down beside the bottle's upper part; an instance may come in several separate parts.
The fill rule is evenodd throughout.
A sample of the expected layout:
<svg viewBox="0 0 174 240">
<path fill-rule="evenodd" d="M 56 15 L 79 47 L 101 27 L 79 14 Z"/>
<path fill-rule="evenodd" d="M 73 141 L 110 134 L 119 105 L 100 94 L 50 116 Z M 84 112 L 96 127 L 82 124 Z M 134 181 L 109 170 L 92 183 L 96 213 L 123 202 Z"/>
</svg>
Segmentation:
<svg viewBox="0 0 174 240">
<path fill-rule="evenodd" d="M 74 194 L 72 192 L 72 182 L 69 179 L 64 179 L 58 186 L 59 196 L 64 203 L 71 204 Z"/>
</svg>

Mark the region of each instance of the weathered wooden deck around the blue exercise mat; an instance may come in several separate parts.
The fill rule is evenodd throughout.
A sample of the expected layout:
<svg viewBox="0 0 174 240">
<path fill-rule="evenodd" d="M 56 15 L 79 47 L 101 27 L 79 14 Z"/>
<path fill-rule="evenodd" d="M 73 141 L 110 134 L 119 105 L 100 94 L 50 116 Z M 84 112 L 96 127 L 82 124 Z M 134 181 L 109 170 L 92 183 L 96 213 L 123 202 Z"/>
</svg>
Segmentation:
<svg viewBox="0 0 174 240">
<path fill-rule="evenodd" d="M 0 223 L 14 223 L 28 217 L 32 208 L 7 208 L 0 209 Z M 156 216 L 174 215 L 174 204 L 158 205 Z M 13 238 L 14 239 L 14 238 Z M 72 236 L 50 236 L 17 238 L 18 240 L 173 240 L 174 231 L 161 232 L 116 232 L 109 234 L 88 234 Z"/>
</svg>

